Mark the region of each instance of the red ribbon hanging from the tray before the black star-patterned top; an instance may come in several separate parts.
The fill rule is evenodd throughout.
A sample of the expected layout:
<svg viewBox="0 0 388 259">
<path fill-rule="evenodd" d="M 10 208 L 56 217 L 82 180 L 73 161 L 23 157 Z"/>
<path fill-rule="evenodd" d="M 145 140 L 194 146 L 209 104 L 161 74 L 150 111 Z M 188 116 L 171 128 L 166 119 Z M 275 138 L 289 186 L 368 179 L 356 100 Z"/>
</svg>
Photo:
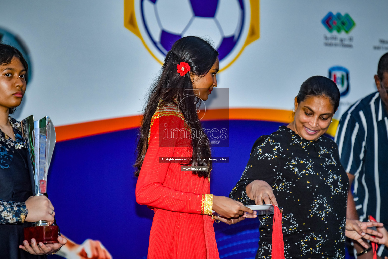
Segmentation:
<svg viewBox="0 0 388 259">
<path fill-rule="evenodd" d="M 282 230 L 282 212 L 274 205 L 274 221 L 272 222 L 272 259 L 284 259 L 284 242 Z"/>
</svg>

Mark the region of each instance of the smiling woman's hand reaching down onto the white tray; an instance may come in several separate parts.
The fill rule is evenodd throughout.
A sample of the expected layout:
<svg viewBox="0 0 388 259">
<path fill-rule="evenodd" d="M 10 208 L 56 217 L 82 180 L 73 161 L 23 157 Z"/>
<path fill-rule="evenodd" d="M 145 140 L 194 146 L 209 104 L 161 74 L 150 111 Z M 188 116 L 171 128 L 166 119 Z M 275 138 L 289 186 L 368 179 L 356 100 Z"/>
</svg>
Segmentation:
<svg viewBox="0 0 388 259">
<path fill-rule="evenodd" d="M 271 186 L 266 181 L 255 180 L 246 186 L 246 195 L 254 200 L 256 205 L 273 204 L 277 206 L 277 201 Z"/>
</svg>

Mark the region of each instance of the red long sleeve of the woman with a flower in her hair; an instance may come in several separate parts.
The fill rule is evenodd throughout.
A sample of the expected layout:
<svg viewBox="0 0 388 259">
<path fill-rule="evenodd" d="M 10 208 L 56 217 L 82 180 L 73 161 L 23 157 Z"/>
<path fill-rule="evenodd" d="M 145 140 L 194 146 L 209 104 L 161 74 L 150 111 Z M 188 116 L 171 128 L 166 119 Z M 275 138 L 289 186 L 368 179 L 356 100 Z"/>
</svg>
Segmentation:
<svg viewBox="0 0 388 259">
<path fill-rule="evenodd" d="M 182 147 L 177 147 L 176 140 L 159 140 L 159 136 L 163 134 L 159 130 L 159 122 L 160 117 L 156 116 L 151 125 L 149 146 L 136 184 L 136 201 L 158 209 L 202 214 L 203 194 L 163 186 L 171 163 L 160 163 L 159 156 L 171 157 L 175 149 Z M 163 116 L 161 123 L 168 123 L 169 128 L 171 126 L 174 129 L 185 129 L 184 120 L 175 115 Z"/>
</svg>

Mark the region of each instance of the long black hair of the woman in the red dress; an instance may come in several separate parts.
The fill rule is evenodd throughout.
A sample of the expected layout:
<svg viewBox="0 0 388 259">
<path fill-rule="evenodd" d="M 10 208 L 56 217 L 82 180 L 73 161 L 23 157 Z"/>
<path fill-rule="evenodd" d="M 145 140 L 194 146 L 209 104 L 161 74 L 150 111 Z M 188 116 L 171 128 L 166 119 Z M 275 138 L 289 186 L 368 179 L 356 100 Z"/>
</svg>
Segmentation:
<svg viewBox="0 0 388 259">
<path fill-rule="evenodd" d="M 199 97 L 195 95 L 184 96 L 187 91 L 192 92 L 193 84 L 190 78 L 190 73 L 180 76 L 177 73 L 177 64 L 186 62 L 191 67 L 191 73 L 197 76 L 205 76 L 217 61 L 218 52 L 213 46 L 199 37 L 184 37 L 177 40 L 167 53 L 165 62 L 162 66 L 161 73 L 154 85 L 151 87 L 147 96 L 147 103 L 144 109 L 142 125 L 140 127 L 138 142 L 137 142 L 137 158 L 135 162 L 135 176 L 139 176 L 142 167 L 145 152 L 148 148 L 148 132 L 152 115 L 158 107 L 159 99 L 173 103 L 173 99 L 177 98 L 179 109 L 184 115 L 185 122 L 196 132 L 201 132 L 202 124 L 198 119 L 196 108 L 201 103 Z M 186 90 L 186 92 L 185 92 Z M 208 177 L 211 170 L 211 162 L 201 162 L 199 158 L 210 157 L 211 151 L 208 144 L 201 144 L 200 139 L 192 138 L 191 146 L 193 148 L 192 158 L 196 162 L 190 163 L 192 166 L 209 167 L 208 172 L 193 172 L 199 177 Z"/>
</svg>

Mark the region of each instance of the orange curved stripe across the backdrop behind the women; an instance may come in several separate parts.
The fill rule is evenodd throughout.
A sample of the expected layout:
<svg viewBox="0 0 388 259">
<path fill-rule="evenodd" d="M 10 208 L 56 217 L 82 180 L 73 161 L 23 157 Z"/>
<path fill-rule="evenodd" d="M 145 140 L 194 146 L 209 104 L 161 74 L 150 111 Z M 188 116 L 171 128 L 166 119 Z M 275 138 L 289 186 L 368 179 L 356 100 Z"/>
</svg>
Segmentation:
<svg viewBox="0 0 388 259">
<path fill-rule="evenodd" d="M 289 123 L 293 120 L 292 111 L 263 109 L 263 108 L 229 108 L 211 109 L 199 114 L 203 121 L 209 120 L 264 120 L 269 122 Z M 57 141 L 66 141 L 80 137 L 93 136 L 118 130 L 135 129 L 140 127 L 142 115 L 127 116 L 93 122 L 82 122 L 55 127 Z M 330 126 L 327 133 L 334 136 L 338 122 Z"/>
</svg>

